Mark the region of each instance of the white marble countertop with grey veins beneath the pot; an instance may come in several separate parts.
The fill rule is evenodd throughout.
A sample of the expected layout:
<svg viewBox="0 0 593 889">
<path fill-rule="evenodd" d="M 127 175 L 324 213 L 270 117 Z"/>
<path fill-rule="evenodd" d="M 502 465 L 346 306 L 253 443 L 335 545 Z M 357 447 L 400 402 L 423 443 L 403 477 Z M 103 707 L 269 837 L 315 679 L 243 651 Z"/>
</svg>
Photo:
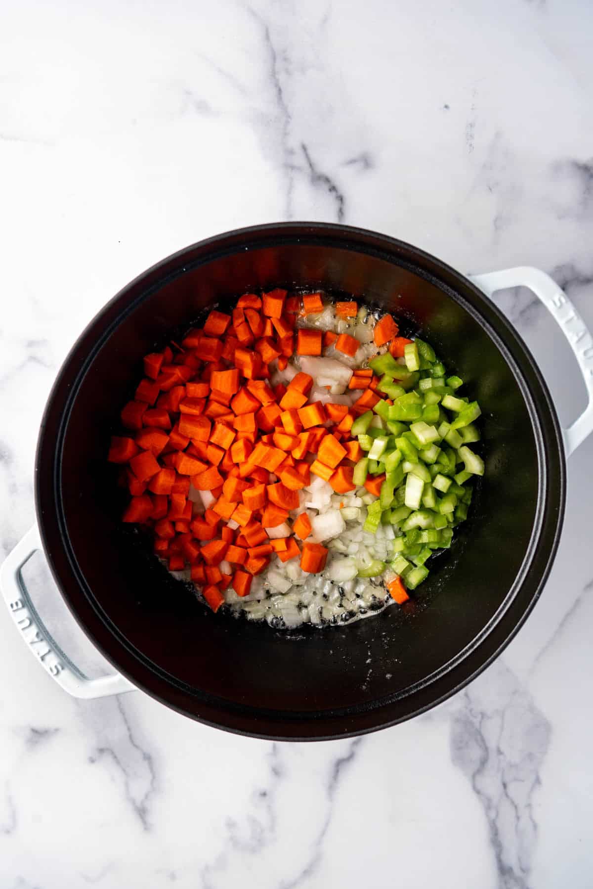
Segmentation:
<svg viewBox="0 0 593 889">
<path fill-rule="evenodd" d="M 344 220 L 462 271 L 545 269 L 593 323 L 593 8 L 580 0 L 4 4 L 0 545 L 84 324 L 180 246 Z M 554 322 L 501 304 L 562 420 Z M 356 741 L 273 744 L 143 693 L 75 701 L 0 608 L 2 889 L 585 889 L 593 872 L 593 442 L 546 589 L 490 669 Z"/>
</svg>

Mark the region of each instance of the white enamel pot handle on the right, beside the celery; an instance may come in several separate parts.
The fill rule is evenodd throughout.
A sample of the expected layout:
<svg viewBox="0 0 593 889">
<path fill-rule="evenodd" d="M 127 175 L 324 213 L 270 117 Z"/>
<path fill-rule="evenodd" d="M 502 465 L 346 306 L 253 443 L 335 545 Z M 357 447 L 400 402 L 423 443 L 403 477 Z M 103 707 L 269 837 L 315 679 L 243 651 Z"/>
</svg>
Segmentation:
<svg viewBox="0 0 593 889">
<path fill-rule="evenodd" d="M 469 275 L 488 296 L 506 287 L 528 287 L 556 319 L 579 363 L 589 404 L 573 425 L 563 430 L 566 456 L 569 457 L 593 431 L 593 339 L 579 313 L 565 292 L 539 268 L 519 266 L 503 268 L 485 275 Z"/>
</svg>

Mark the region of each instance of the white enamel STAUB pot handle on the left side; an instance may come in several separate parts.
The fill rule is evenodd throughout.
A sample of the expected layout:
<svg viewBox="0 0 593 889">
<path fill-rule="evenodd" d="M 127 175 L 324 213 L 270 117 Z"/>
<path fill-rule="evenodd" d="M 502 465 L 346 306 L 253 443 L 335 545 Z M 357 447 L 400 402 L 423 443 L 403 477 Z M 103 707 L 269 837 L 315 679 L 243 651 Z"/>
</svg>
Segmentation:
<svg viewBox="0 0 593 889">
<path fill-rule="evenodd" d="M 29 650 L 35 653 L 44 668 L 58 685 L 75 698 L 104 698 L 108 694 L 135 691 L 119 673 L 89 679 L 70 661 L 60 646 L 52 639 L 31 601 L 22 577 L 22 568 L 28 559 L 43 549 L 39 531 L 34 525 L 17 543 L 0 568 L 0 589 L 12 621 Z"/>
</svg>

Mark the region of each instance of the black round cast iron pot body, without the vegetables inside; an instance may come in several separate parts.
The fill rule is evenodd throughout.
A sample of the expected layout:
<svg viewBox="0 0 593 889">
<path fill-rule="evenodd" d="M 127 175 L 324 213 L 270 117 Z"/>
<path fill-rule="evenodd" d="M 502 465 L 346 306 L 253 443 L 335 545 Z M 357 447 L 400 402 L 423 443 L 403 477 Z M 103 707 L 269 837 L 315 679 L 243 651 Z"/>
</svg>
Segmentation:
<svg viewBox="0 0 593 889">
<path fill-rule="evenodd" d="M 341 629 L 288 633 L 215 616 L 174 581 L 141 535 L 122 526 L 106 454 L 145 353 L 213 303 L 224 309 L 242 292 L 292 285 L 352 294 L 421 330 L 482 406 L 486 471 L 469 520 L 413 602 Z M 188 717 L 284 740 L 370 732 L 466 685 L 509 643 L 540 595 L 564 504 L 557 415 L 501 312 L 427 253 L 336 225 L 284 223 L 212 237 L 124 287 L 63 365 L 36 457 L 45 554 L 76 620 L 108 661 Z M 14 587 L 6 593 L 11 571 L 13 564 L 4 570 L 7 599 L 17 595 Z M 15 621 L 28 614 L 51 647 L 22 585 L 19 596 L 19 606 L 9 603 Z M 44 663 L 64 685 L 69 672 L 84 686 L 60 652 Z M 105 689 L 126 685 L 120 677 Z"/>
</svg>

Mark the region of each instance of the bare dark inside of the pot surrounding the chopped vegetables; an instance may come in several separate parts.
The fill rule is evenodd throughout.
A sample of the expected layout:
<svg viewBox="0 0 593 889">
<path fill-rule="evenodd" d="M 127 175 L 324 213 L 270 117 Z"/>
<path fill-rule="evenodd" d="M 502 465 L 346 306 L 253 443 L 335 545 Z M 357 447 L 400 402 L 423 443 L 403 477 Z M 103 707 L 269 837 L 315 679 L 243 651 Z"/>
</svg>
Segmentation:
<svg viewBox="0 0 593 889">
<path fill-rule="evenodd" d="M 341 719 L 335 732 L 348 732 L 357 714 L 389 704 L 397 715 L 397 701 L 412 693 L 424 690 L 422 706 L 433 702 L 430 684 L 469 656 L 506 612 L 525 579 L 530 546 L 540 540 L 546 469 L 525 379 L 478 313 L 479 297 L 472 305 L 411 250 L 388 254 L 331 236 L 268 240 L 165 263 L 93 323 L 54 448 L 56 509 L 69 570 L 107 630 L 102 639 L 92 636 L 117 666 L 124 666 L 117 651 L 127 652 L 128 675 L 132 661 L 142 664 L 155 677 L 152 688 L 144 680 L 148 691 L 165 701 L 180 693 L 184 703 L 176 706 L 188 715 L 242 731 L 265 734 L 276 725 L 270 733 L 277 735 L 277 725 L 299 720 L 287 736 L 315 735 L 327 733 L 316 726 Z M 485 477 L 452 549 L 437 558 L 413 602 L 342 629 L 283 632 L 213 615 L 159 565 L 140 533 L 121 524 L 125 495 L 106 462 L 142 356 L 162 348 L 204 308 L 225 310 L 237 295 L 272 286 L 353 295 L 404 318 L 461 376 L 464 393 L 483 411 Z M 44 445 L 42 457 L 43 451 Z M 40 517 L 48 533 L 43 509 Z M 407 715 L 405 705 L 401 713 Z"/>
</svg>

